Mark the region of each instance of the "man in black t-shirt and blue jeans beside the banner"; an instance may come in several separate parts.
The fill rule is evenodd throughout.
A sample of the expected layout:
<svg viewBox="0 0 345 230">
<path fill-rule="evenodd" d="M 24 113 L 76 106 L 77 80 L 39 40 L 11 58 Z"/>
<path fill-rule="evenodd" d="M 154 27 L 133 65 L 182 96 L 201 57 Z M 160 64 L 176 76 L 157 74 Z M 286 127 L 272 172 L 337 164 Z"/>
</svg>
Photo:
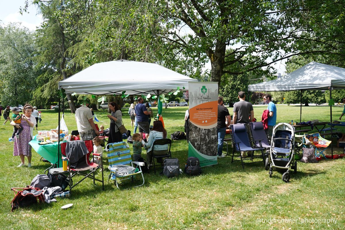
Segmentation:
<svg viewBox="0 0 345 230">
<path fill-rule="evenodd" d="M 229 127 L 230 121 L 231 121 L 229 110 L 225 108 L 223 104 L 224 104 L 223 97 L 218 97 L 218 122 L 217 122 L 217 132 L 218 132 L 217 156 L 218 158 L 225 157 L 222 154 L 225 130 L 226 128 Z M 225 123 L 225 119 L 227 120 L 227 124 Z"/>
</svg>

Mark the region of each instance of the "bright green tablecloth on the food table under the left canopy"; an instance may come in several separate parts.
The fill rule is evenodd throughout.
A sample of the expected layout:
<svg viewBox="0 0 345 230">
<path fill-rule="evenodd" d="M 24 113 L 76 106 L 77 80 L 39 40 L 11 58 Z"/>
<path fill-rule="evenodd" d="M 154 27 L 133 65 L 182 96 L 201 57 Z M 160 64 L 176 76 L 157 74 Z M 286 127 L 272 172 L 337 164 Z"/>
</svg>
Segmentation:
<svg viewBox="0 0 345 230">
<path fill-rule="evenodd" d="M 29 142 L 32 148 L 40 154 L 43 158 L 48 160 L 50 163 L 55 164 L 60 160 L 59 165 L 62 167 L 62 159 L 61 159 L 61 151 L 60 156 L 57 156 L 57 147 L 58 142 L 54 142 L 51 144 L 38 144 L 39 142 L 36 140 L 36 136 L 33 137 L 33 140 Z M 60 142 L 61 143 L 61 142 Z"/>
</svg>

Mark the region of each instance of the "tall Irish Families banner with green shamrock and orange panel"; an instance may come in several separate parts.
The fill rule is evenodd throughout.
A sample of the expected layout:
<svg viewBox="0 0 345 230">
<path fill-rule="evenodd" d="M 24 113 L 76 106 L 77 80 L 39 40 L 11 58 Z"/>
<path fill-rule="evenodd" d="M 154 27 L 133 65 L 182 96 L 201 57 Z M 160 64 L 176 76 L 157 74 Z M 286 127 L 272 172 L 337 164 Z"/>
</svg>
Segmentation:
<svg viewBox="0 0 345 230">
<path fill-rule="evenodd" d="M 188 82 L 188 157 L 197 157 L 200 166 L 217 164 L 218 83 Z"/>
</svg>

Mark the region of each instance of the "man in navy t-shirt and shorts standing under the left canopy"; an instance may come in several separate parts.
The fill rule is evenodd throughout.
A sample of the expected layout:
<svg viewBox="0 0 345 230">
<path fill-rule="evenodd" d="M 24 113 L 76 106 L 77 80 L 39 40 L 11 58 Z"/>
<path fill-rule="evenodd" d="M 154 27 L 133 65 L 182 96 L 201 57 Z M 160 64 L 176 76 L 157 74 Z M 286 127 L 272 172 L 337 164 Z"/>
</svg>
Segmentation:
<svg viewBox="0 0 345 230">
<path fill-rule="evenodd" d="M 142 138 L 142 133 L 145 133 L 145 138 L 147 139 L 150 133 L 148 115 L 151 115 L 152 113 L 147 111 L 144 100 L 141 97 L 139 97 L 137 101 L 138 104 L 135 106 L 134 111 L 138 122 L 140 138 Z"/>
</svg>

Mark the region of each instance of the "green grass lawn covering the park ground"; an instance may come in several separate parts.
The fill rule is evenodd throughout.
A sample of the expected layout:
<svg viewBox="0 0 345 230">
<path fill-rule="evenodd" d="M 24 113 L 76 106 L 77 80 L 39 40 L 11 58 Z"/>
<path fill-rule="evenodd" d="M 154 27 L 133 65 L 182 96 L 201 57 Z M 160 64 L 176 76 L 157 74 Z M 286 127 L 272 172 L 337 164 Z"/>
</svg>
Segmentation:
<svg viewBox="0 0 345 230">
<path fill-rule="evenodd" d="M 157 112 L 157 108 L 152 109 Z M 266 106 L 254 107 L 258 120 L 264 109 Z M 184 130 L 185 110 L 185 107 L 163 109 L 168 135 Z M 232 114 L 232 108 L 229 110 Z M 333 120 L 339 118 L 342 110 L 333 108 Z M 123 113 L 129 129 L 129 114 L 125 109 Z M 96 114 L 103 121 L 98 124 L 109 127 L 106 111 Z M 42 110 L 42 115 L 39 130 L 57 127 L 56 112 Z M 278 105 L 277 115 L 277 122 L 299 120 L 299 107 Z M 329 107 L 303 107 L 302 121 L 314 119 L 329 121 Z M 73 114 L 66 113 L 65 121 L 70 131 L 76 130 Z M 344 129 L 338 131 L 345 133 Z M 51 204 L 19 208 L 11 213 L 14 195 L 10 189 L 30 184 L 49 164 L 39 161 L 39 154 L 32 150 L 32 168 L 17 168 L 20 159 L 13 157 L 13 142 L 8 142 L 12 126 L 0 125 L 0 134 L 1 229 L 344 229 L 345 226 L 345 159 L 321 160 L 315 164 L 298 162 L 297 174 L 292 174 L 290 183 L 284 183 L 278 171 L 274 170 L 269 178 L 263 163 L 248 164 L 242 169 L 240 162 L 231 164 L 228 156 L 219 159 L 218 165 L 203 168 L 201 176 L 183 174 L 168 179 L 151 172 L 144 174 L 143 187 L 123 191 L 113 183 L 106 183 L 102 191 L 100 183 L 94 186 L 87 179 L 73 188 L 70 198 L 57 198 Z M 344 149 L 334 151 L 341 153 Z M 142 156 L 146 157 L 146 151 L 143 150 Z M 187 142 L 173 141 L 172 156 L 184 168 Z M 103 160 L 105 178 L 106 161 L 107 158 Z M 73 203 L 72 208 L 62 210 L 61 206 L 68 203 Z"/>
</svg>

